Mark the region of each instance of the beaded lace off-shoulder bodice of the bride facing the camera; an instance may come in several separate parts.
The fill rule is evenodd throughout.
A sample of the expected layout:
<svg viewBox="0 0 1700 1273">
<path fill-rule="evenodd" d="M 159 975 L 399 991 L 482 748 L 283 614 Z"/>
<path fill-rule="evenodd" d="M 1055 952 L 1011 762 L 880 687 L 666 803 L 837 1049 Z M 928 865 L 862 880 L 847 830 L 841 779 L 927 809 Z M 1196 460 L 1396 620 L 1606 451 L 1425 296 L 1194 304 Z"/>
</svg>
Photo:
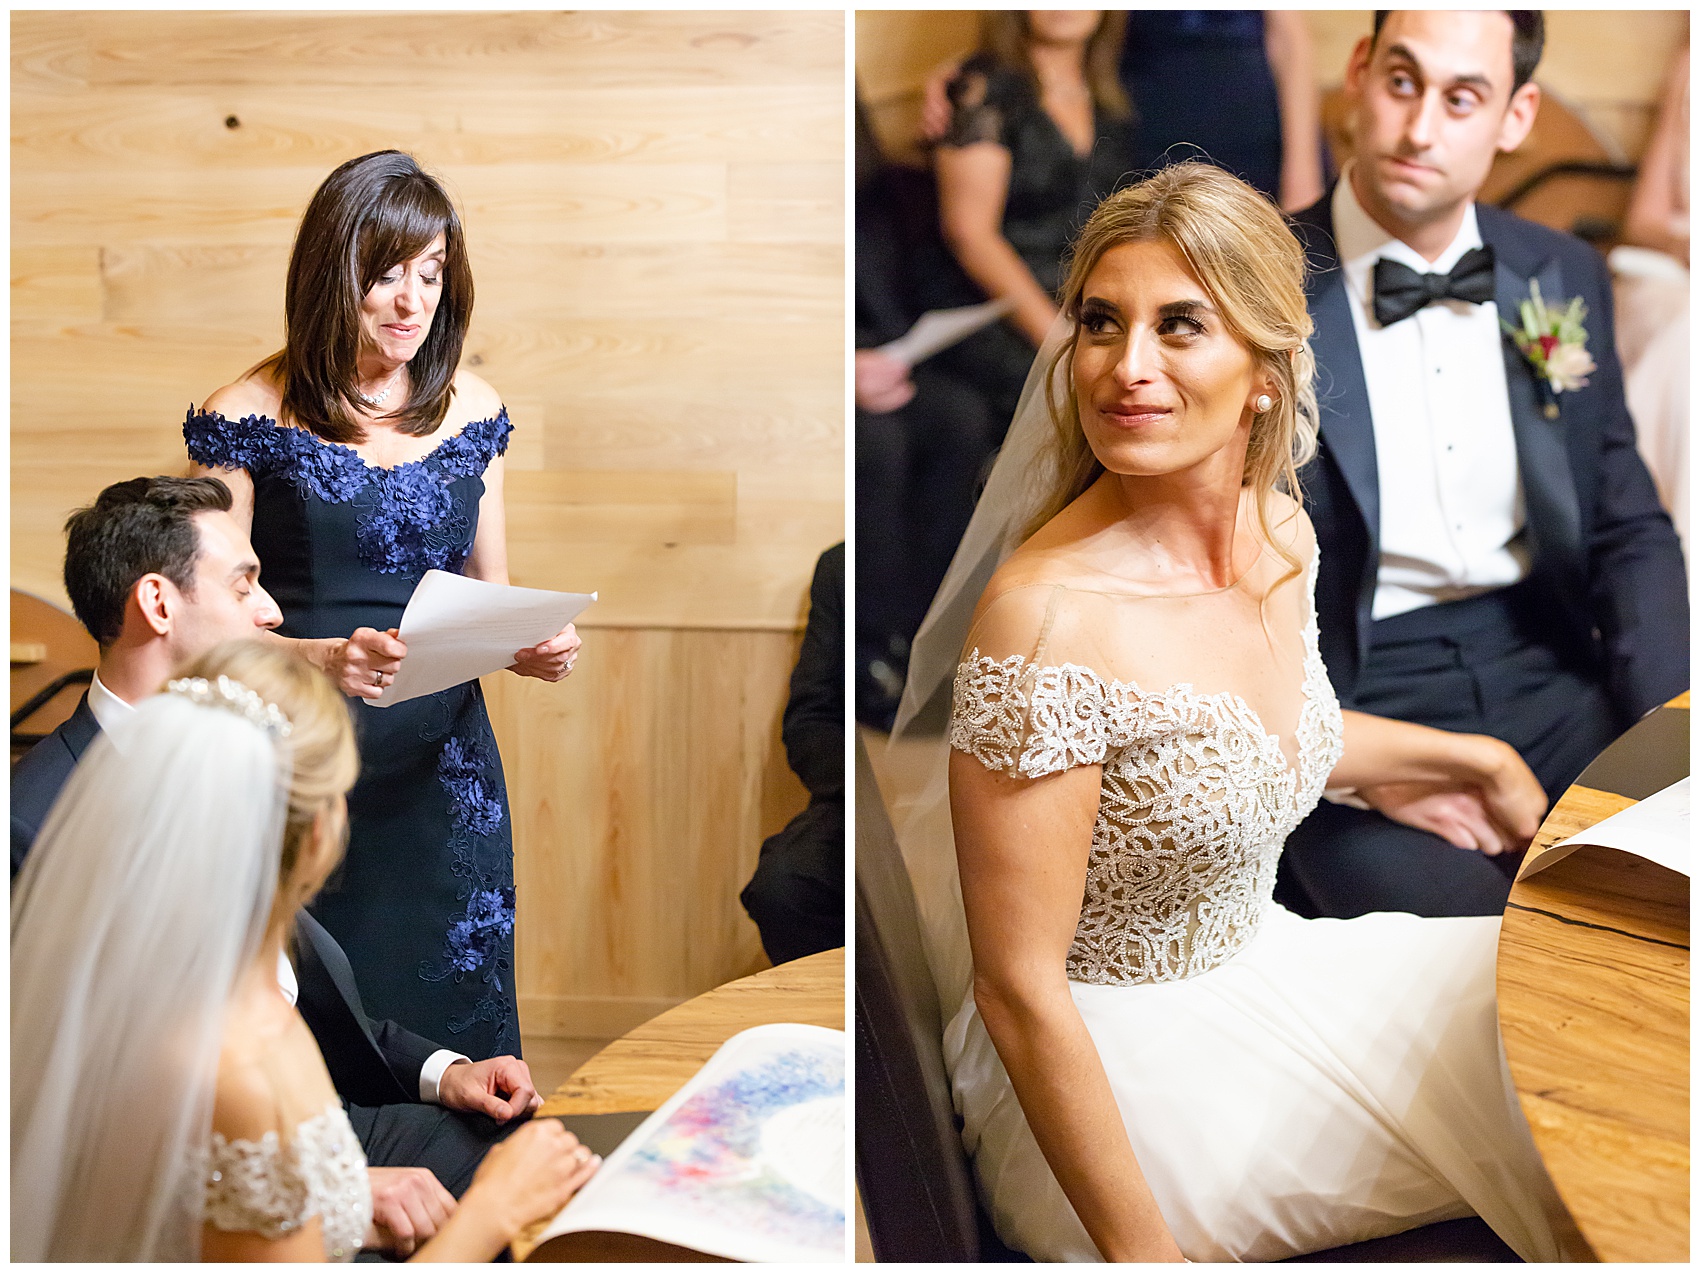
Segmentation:
<svg viewBox="0 0 1700 1273">
<path fill-rule="evenodd" d="M 1312 557 L 1307 598 L 1314 576 Z M 1311 600 L 1302 663 L 1297 765 L 1234 692 L 1144 690 L 1078 663 L 1047 663 L 1042 649 L 996 659 L 976 646 L 957 668 L 950 746 L 1025 778 L 1103 767 L 1068 953 L 1073 981 L 1180 981 L 1251 940 L 1282 845 L 1341 751 Z"/>
</svg>

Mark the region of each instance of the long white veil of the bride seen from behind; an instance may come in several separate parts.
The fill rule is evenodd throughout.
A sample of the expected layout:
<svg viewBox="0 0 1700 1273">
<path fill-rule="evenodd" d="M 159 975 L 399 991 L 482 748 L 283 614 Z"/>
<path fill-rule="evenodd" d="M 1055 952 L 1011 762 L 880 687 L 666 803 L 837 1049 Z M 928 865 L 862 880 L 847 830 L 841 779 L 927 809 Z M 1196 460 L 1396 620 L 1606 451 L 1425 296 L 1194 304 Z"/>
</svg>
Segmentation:
<svg viewBox="0 0 1700 1273">
<path fill-rule="evenodd" d="M 12 1258 L 196 1259 L 224 1006 L 287 744 L 177 693 L 71 773 L 12 889 Z"/>
</svg>

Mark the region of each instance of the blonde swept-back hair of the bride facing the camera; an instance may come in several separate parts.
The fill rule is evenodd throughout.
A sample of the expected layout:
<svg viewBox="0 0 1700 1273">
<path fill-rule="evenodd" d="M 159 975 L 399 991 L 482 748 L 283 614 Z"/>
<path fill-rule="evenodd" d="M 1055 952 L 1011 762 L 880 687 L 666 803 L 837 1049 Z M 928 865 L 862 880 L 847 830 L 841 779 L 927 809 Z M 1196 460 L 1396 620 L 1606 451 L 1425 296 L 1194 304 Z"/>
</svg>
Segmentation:
<svg viewBox="0 0 1700 1273">
<path fill-rule="evenodd" d="M 1023 537 L 1068 508 L 1102 474 L 1103 464 L 1080 425 L 1071 376 L 1057 399 L 1057 367 L 1071 365 L 1080 340 L 1080 306 L 1086 279 L 1110 248 L 1124 243 L 1170 243 L 1204 284 L 1227 330 L 1275 382 L 1275 405 L 1251 420 L 1246 469 L 1263 539 L 1295 578 L 1299 557 L 1275 540 L 1268 495 L 1282 488 L 1299 496 L 1299 467 L 1316 455 L 1316 359 L 1311 314 L 1304 301 L 1304 250 L 1282 214 L 1261 194 L 1216 165 L 1197 160 L 1163 168 L 1098 204 L 1074 240 L 1061 308 L 1074 330 L 1046 369 L 1046 406 L 1056 428 L 1057 483 Z"/>
</svg>

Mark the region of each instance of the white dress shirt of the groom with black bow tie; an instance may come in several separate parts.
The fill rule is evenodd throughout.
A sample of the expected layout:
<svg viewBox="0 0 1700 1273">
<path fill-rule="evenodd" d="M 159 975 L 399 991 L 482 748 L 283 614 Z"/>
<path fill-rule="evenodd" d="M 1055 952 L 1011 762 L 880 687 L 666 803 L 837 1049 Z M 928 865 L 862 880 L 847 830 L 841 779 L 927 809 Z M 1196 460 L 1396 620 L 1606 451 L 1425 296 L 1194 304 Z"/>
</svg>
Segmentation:
<svg viewBox="0 0 1700 1273">
<path fill-rule="evenodd" d="M 1476 207 L 1433 262 L 1358 204 L 1350 167 L 1334 187 L 1334 243 L 1352 297 L 1380 483 L 1374 619 L 1503 588 L 1528 573 L 1523 486 L 1504 384 L 1499 308 L 1436 301 L 1375 321 L 1375 262 L 1445 274 L 1482 245 Z"/>
</svg>

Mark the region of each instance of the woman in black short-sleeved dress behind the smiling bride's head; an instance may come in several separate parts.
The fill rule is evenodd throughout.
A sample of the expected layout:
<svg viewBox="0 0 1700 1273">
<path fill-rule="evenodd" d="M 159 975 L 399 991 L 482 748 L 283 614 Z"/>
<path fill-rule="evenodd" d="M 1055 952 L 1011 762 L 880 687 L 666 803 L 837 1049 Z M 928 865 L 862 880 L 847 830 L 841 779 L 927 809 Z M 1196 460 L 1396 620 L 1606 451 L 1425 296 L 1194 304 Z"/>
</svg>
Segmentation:
<svg viewBox="0 0 1700 1273">
<path fill-rule="evenodd" d="M 1125 14 L 981 14 L 979 51 L 949 87 L 933 151 L 938 221 L 957 270 L 926 308 L 1010 297 L 1005 323 L 940 354 L 986 388 L 1006 428 L 1034 352 L 1056 320 L 1062 257 L 1096 202 L 1129 175 L 1132 117 L 1115 78 Z"/>
</svg>

